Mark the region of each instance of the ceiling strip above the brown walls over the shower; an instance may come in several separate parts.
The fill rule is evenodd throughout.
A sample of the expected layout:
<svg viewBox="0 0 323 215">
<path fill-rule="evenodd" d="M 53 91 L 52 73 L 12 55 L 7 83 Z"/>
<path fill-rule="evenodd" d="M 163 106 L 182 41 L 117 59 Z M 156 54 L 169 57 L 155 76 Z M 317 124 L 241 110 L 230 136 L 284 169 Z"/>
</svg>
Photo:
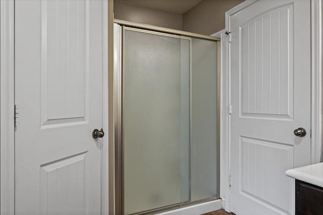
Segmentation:
<svg viewBox="0 0 323 215">
<path fill-rule="evenodd" d="M 144 8 L 184 14 L 202 0 L 117 0 L 119 2 L 137 5 Z"/>
</svg>

